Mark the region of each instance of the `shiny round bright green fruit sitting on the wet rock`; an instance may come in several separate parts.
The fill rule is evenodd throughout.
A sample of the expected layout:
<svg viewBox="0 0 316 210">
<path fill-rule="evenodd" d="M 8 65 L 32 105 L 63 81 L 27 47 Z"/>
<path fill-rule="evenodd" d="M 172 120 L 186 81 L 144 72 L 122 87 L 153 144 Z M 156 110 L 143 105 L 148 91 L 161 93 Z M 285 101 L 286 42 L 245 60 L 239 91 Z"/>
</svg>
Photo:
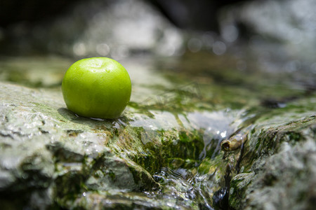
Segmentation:
<svg viewBox="0 0 316 210">
<path fill-rule="evenodd" d="M 119 118 L 131 98 L 129 73 L 107 57 L 80 59 L 62 79 L 67 108 L 88 118 Z"/>
</svg>

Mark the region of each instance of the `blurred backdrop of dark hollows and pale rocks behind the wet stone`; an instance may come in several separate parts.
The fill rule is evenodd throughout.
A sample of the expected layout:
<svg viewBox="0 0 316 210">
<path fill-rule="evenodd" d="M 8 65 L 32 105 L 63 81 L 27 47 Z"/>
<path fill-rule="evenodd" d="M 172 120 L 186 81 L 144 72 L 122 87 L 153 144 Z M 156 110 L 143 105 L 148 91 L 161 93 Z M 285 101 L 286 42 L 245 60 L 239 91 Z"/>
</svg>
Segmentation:
<svg viewBox="0 0 316 210">
<path fill-rule="evenodd" d="M 240 71 L 255 61 L 314 88 L 315 10 L 315 0 L 2 0 L 0 55 L 230 54 Z"/>
</svg>

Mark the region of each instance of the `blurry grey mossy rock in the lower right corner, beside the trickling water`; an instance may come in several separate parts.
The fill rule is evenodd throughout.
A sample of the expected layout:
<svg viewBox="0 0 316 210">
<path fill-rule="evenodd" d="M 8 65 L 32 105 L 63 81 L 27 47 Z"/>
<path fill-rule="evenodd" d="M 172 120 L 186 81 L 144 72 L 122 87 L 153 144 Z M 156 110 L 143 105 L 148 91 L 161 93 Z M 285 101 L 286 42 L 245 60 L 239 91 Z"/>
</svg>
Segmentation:
<svg viewBox="0 0 316 210">
<path fill-rule="evenodd" d="M 315 116 L 274 125 L 273 120 L 258 123 L 249 135 L 244 172 L 232 178 L 230 204 L 235 209 L 313 209 Z"/>
</svg>

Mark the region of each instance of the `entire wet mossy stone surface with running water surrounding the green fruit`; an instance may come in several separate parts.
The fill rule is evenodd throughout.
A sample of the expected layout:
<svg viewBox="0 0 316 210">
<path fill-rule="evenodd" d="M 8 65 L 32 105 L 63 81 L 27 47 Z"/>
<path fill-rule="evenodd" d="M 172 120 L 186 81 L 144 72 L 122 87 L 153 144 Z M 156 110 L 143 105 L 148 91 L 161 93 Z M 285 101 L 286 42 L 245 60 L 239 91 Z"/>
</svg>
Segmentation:
<svg viewBox="0 0 316 210">
<path fill-rule="evenodd" d="M 313 207 L 315 93 L 284 76 L 236 71 L 231 57 L 185 56 L 122 60 L 133 92 L 115 120 L 66 109 L 58 84 L 72 61 L 3 60 L 3 207 Z M 45 73 L 29 73 L 47 63 Z M 12 69 L 29 78 L 10 79 Z M 52 73 L 45 83 L 32 77 Z M 245 139 L 235 150 L 220 148 L 239 134 Z"/>
</svg>

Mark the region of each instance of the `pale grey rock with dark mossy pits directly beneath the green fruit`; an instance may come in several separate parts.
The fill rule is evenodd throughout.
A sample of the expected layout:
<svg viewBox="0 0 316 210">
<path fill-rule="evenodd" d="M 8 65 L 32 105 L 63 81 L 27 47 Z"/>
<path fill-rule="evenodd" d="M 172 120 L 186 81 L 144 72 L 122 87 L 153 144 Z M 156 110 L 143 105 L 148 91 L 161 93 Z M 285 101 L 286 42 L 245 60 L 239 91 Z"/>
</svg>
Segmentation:
<svg viewBox="0 0 316 210">
<path fill-rule="evenodd" d="M 106 134 L 62 117 L 60 92 L 6 83 L 0 89 L 0 191 L 24 196 L 22 206 L 47 207 L 55 196 L 78 193 L 81 184 L 91 190 L 128 191 L 147 188 L 150 182 L 157 186 L 144 169 L 105 146 Z"/>
</svg>

